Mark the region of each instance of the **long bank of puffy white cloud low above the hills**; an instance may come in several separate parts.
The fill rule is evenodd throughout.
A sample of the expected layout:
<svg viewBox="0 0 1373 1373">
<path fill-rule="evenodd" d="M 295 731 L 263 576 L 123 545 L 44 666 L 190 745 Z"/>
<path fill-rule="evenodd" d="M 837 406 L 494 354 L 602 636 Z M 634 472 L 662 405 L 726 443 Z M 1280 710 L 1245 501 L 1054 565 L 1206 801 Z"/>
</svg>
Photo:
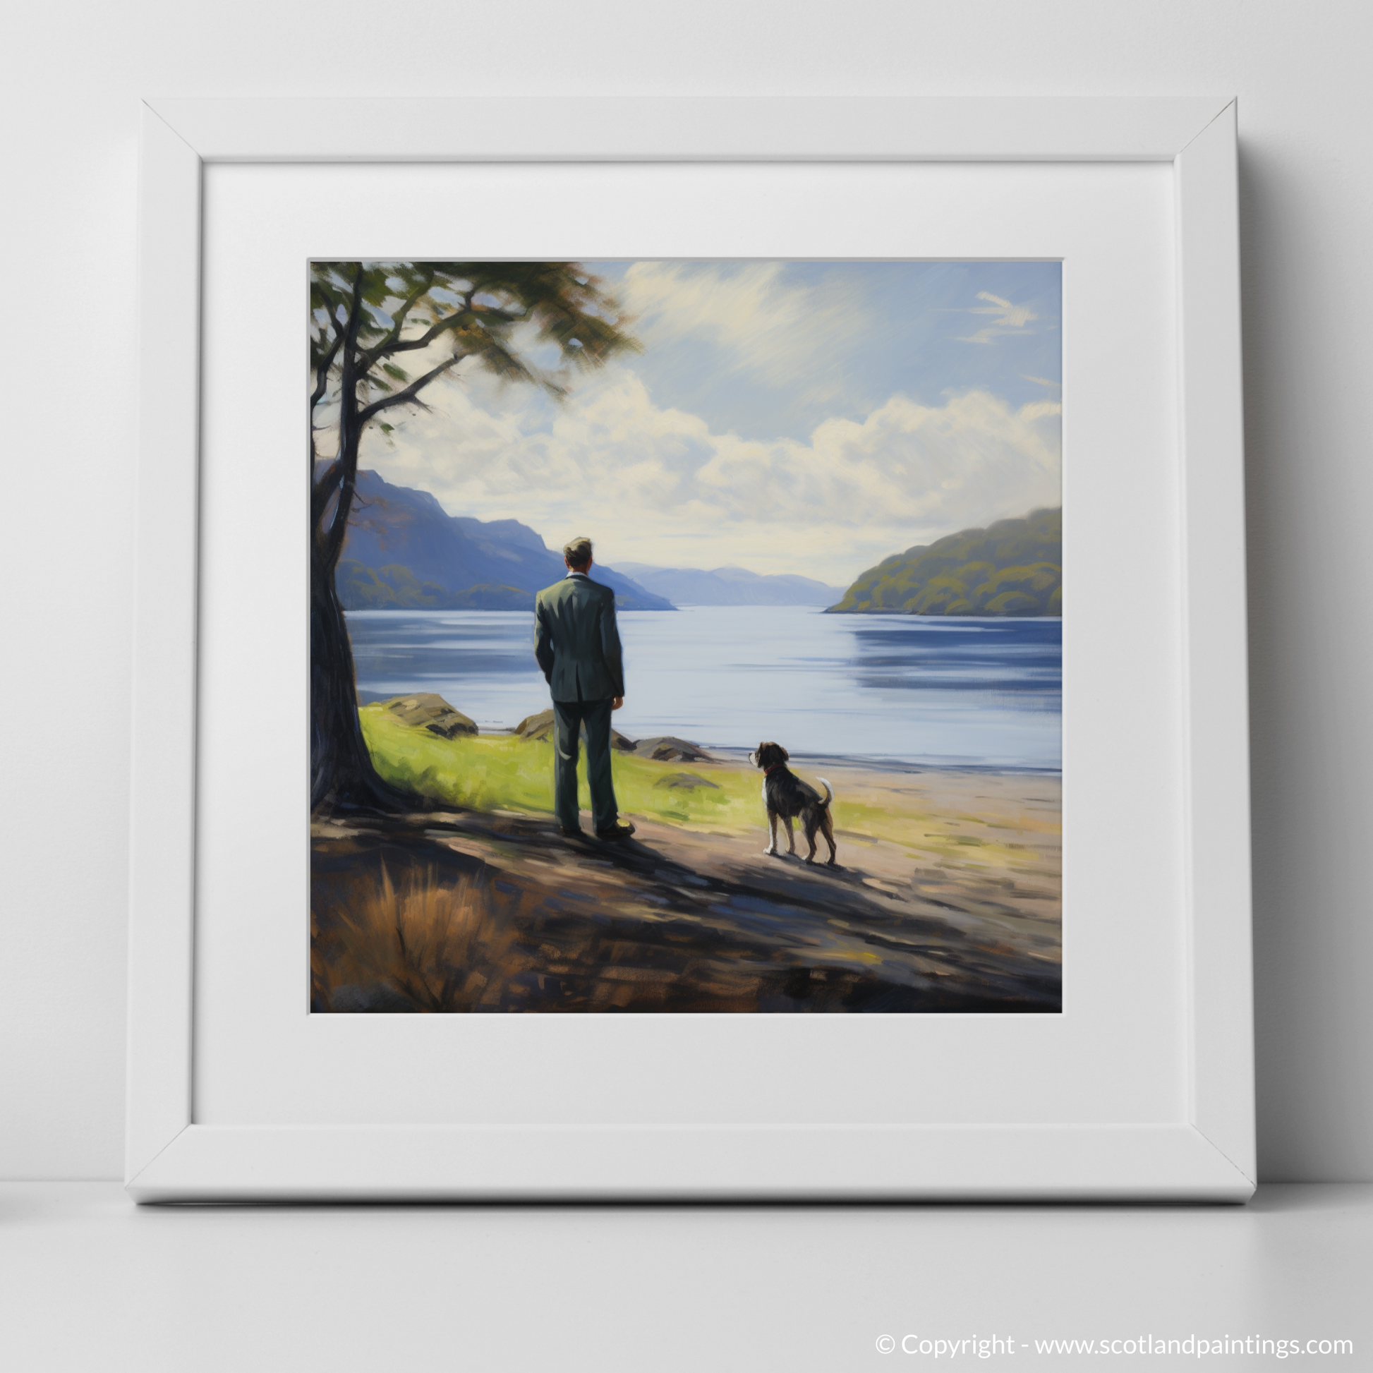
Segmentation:
<svg viewBox="0 0 1373 1373">
<path fill-rule="evenodd" d="M 472 373 L 364 465 L 432 492 L 452 514 L 515 518 L 551 546 L 589 533 L 599 555 L 676 566 L 736 563 L 847 582 L 912 544 L 1060 500 L 1060 406 L 986 391 L 943 405 L 892 395 L 809 441 L 714 434 L 654 404 L 625 367 L 563 405 Z"/>
</svg>

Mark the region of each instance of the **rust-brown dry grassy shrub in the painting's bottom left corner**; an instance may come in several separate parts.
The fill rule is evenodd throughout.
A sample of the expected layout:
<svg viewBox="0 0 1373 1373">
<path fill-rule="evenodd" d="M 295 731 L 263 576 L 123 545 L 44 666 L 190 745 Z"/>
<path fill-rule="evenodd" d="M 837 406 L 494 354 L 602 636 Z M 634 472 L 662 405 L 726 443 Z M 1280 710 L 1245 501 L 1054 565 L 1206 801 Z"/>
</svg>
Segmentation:
<svg viewBox="0 0 1373 1373">
<path fill-rule="evenodd" d="M 310 971 L 316 998 L 330 1004 L 345 984 L 380 983 L 416 1011 L 474 1011 L 500 1001 L 523 967 L 515 949 L 519 894 L 504 898 L 486 880 L 465 875 L 441 881 L 432 868 L 360 884 L 332 912 L 334 934 L 321 939 L 312 913 Z"/>
</svg>

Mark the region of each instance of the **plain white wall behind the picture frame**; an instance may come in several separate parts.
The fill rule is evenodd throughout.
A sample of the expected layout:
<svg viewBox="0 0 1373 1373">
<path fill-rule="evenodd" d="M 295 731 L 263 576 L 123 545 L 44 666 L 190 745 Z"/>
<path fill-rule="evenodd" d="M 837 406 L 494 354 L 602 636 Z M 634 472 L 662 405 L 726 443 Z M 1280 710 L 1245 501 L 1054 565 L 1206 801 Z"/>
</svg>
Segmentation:
<svg viewBox="0 0 1373 1373">
<path fill-rule="evenodd" d="M 0 1177 L 121 1168 L 144 95 L 1238 95 L 1260 1166 L 1373 1178 L 1359 0 L 7 7 Z"/>
</svg>

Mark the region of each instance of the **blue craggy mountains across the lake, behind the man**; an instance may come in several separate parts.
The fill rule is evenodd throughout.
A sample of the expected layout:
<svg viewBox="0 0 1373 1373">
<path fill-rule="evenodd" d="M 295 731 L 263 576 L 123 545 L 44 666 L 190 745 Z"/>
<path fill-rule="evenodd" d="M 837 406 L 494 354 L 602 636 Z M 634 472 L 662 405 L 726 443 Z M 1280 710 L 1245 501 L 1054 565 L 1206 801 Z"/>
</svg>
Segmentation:
<svg viewBox="0 0 1373 1373">
<path fill-rule="evenodd" d="M 368 471 L 357 496 L 338 570 L 345 610 L 533 610 L 534 593 L 567 573 L 519 520 L 449 515 L 428 492 Z M 676 610 L 600 563 L 592 581 L 612 588 L 621 610 Z"/>
</svg>

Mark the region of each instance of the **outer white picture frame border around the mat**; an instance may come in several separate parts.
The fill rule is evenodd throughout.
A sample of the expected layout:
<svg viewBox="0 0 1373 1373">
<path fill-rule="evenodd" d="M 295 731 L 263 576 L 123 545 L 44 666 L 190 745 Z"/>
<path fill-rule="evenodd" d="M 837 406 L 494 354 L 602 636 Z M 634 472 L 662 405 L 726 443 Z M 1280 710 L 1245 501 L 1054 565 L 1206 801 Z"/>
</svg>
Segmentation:
<svg viewBox="0 0 1373 1373">
<path fill-rule="evenodd" d="M 1159 162 L 1177 206 L 1186 1045 L 1171 1120 L 194 1118 L 202 176 L 214 162 Z M 1188 99 L 151 100 L 125 1184 L 139 1201 L 1188 1199 L 1255 1186 L 1236 108 Z M 302 917 L 303 919 L 303 917 Z"/>
</svg>

